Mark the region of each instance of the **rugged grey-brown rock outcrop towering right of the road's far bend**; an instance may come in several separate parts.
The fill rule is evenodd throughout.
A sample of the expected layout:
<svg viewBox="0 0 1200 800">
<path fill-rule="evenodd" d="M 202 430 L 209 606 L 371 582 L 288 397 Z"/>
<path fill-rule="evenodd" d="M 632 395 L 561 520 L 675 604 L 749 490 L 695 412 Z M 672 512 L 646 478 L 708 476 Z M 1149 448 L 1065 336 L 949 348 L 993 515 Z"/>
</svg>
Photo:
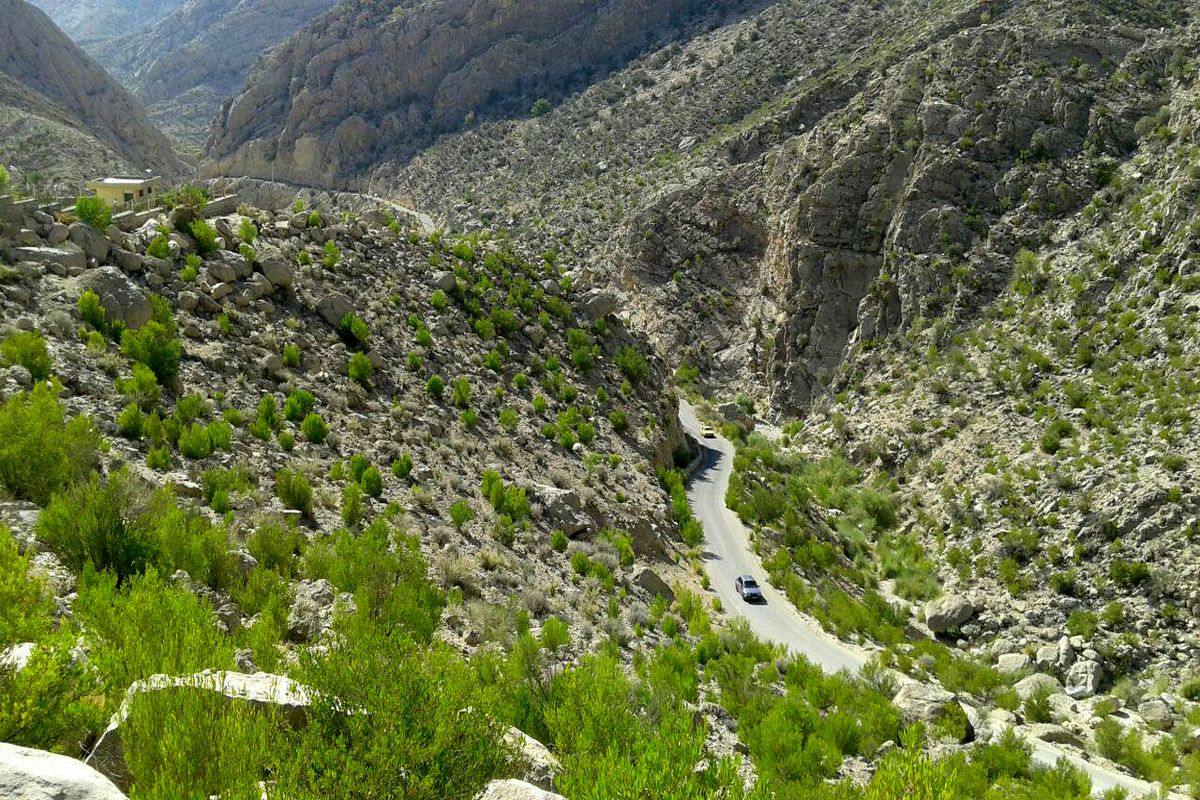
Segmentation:
<svg viewBox="0 0 1200 800">
<path fill-rule="evenodd" d="M 935 26 L 928 46 L 854 76 L 845 102 L 830 109 L 845 84 L 818 82 L 727 139 L 713 168 L 647 200 L 616 240 L 622 279 L 668 349 L 718 384 L 751 380 L 803 411 L 853 353 L 985 307 L 1013 255 L 1103 187 L 1178 60 L 1177 37 L 1150 35 L 1163 20 L 1139 22 L 964 4 L 950 31 Z M 737 209 L 737 223 L 697 221 L 714 206 Z M 665 275 L 678 287 L 655 289 Z M 694 314 L 666 311 L 714 285 L 740 290 L 721 289 L 721 332 L 697 348 Z"/>
</svg>

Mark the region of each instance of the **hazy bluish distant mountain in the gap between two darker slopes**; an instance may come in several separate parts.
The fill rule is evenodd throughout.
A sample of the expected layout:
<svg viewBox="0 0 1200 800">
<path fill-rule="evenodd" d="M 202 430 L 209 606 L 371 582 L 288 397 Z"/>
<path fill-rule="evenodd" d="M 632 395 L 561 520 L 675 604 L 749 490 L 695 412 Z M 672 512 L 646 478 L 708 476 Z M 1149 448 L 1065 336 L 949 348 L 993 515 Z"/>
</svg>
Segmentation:
<svg viewBox="0 0 1200 800">
<path fill-rule="evenodd" d="M 251 65 L 335 0 L 190 0 L 92 48 L 163 131 L 199 149 Z"/>
</svg>

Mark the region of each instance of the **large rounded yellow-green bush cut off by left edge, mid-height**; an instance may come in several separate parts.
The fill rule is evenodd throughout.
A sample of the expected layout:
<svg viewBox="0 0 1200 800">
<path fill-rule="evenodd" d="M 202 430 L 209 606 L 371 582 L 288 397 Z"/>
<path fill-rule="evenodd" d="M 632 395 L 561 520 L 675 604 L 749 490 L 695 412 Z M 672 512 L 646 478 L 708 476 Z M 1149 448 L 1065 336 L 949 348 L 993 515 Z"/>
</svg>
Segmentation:
<svg viewBox="0 0 1200 800">
<path fill-rule="evenodd" d="M 0 487 L 46 505 L 96 468 L 100 444 L 90 419 L 66 419 L 58 387 L 37 384 L 0 407 Z"/>
</svg>

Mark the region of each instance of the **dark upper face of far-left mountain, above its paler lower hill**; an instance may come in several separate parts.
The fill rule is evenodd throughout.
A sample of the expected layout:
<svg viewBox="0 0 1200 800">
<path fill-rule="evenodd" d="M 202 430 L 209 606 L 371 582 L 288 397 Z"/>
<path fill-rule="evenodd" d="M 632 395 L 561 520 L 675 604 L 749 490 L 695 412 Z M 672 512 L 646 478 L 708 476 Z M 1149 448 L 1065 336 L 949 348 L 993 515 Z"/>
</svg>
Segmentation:
<svg viewBox="0 0 1200 800">
<path fill-rule="evenodd" d="M 164 174 L 182 168 L 138 102 L 44 13 L 23 0 L 0 0 L 0 73 L 12 80 L 11 91 L 5 92 L 11 104 L 4 114 L 11 122 L 34 113 L 73 137 L 97 140 L 132 168 Z M 72 127 L 77 130 L 71 132 Z M 20 152 L 11 157 L 22 167 Z"/>
</svg>

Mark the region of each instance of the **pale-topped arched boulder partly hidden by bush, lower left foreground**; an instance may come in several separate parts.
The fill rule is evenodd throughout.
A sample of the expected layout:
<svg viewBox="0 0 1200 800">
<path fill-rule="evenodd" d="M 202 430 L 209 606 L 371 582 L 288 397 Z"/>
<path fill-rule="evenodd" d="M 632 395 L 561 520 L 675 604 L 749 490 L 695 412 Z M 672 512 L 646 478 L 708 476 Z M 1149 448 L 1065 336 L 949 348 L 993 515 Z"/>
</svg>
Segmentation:
<svg viewBox="0 0 1200 800">
<path fill-rule="evenodd" d="M 236 672 L 203 672 L 178 678 L 152 675 L 133 684 L 125 692 L 121 708 L 113 715 L 108 728 L 96 742 L 91 754 L 88 756 L 88 765 L 127 790 L 130 788 L 130 770 L 125 763 L 121 726 L 128 718 L 133 703 L 139 697 L 155 692 L 178 691 L 209 692 L 227 703 L 242 703 L 251 709 L 274 711 L 294 728 L 307 724 L 308 708 L 312 705 L 312 693 L 308 688 L 283 675 L 269 673 L 245 675 Z M 7 800 L 7 795 L 0 796 L 5 796 Z"/>
</svg>

